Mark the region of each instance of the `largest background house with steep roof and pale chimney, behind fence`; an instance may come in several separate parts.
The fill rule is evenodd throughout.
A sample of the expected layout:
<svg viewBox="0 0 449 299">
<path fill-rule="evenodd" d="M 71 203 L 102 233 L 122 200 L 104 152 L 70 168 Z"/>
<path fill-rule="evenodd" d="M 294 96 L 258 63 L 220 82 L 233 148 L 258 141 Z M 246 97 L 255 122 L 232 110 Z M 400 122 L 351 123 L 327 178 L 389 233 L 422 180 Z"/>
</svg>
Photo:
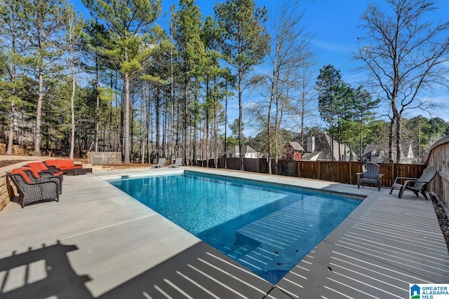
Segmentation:
<svg viewBox="0 0 449 299">
<path fill-rule="evenodd" d="M 307 137 L 306 153 L 302 155 L 302 160 L 356 161 L 358 156 L 347 144 L 339 144 L 327 134 L 316 134 Z"/>
</svg>

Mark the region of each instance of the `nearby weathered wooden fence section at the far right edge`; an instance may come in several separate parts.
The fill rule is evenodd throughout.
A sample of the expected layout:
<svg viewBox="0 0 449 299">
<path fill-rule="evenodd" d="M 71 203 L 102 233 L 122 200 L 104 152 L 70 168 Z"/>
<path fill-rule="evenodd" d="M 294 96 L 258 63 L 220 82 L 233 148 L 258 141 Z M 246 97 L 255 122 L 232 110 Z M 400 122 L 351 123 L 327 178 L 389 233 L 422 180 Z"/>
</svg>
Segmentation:
<svg viewBox="0 0 449 299">
<path fill-rule="evenodd" d="M 449 207 L 449 137 L 437 141 L 431 146 L 427 166 L 435 166 L 438 173 L 429 184 L 429 190 L 434 192 L 440 200 Z"/>
</svg>

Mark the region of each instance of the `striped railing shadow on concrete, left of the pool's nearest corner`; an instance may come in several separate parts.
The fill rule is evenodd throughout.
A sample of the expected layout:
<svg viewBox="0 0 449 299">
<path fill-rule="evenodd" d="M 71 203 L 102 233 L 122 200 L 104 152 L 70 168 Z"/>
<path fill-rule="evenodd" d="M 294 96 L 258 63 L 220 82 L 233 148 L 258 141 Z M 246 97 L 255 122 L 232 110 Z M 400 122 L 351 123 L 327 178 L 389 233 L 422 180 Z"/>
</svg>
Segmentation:
<svg viewBox="0 0 449 299">
<path fill-rule="evenodd" d="M 272 288 L 199 242 L 98 298 L 264 298 Z"/>
</svg>

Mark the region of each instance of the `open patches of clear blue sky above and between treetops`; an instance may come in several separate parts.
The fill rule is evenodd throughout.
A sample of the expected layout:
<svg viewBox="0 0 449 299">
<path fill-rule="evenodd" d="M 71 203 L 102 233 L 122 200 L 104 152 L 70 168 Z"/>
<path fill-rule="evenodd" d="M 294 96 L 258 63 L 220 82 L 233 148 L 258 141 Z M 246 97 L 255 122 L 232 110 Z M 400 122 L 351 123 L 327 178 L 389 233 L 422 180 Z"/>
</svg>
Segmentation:
<svg viewBox="0 0 449 299">
<path fill-rule="evenodd" d="M 83 9 L 80 0 L 74 1 L 74 6 L 81 11 L 83 15 L 88 13 Z M 268 13 L 276 11 L 276 6 L 282 4 L 283 1 L 273 0 L 255 0 L 257 5 L 266 6 Z M 351 60 L 351 52 L 357 49 L 357 36 L 363 36 L 363 32 L 358 28 L 360 23 L 361 13 L 366 9 L 369 3 L 373 1 L 368 0 L 302 0 L 300 1 L 300 8 L 305 11 L 305 20 L 311 33 L 315 33 L 312 41 L 312 50 L 316 55 L 316 74 L 319 73 L 319 68 L 326 64 L 333 64 L 335 69 L 339 69 L 343 75 L 343 80 L 358 85 L 360 74 L 354 71 L 357 62 Z M 386 0 L 375 1 L 384 4 Z M 449 0 L 437 1 L 440 6 L 440 11 L 434 13 L 435 20 L 448 20 Z M 201 8 L 203 17 L 206 15 L 213 15 L 213 6 L 216 1 L 196 0 L 196 4 Z M 162 0 L 163 13 L 165 17 L 161 17 L 157 22 L 164 28 L 168 28 L 170 18 L 170 6 L 175 4 L 177 0 Z M 449 64 L 448 64 L 449 74 Z M 449 76 L 449 75 L 448 75 Z M 449 102 L 449 92 L 446 89 L 439 88 L 434 95 L 429 95 L 435 101 Z M 229 103 L 229 120 L 236 118 L 236 103 Z M 406 117 L 419 115 L 420 111 L 415 111 Z M 424 114 L 429 118 L 429 114 Z M 432 117 L 441 117 L 449 121 L 449 109 L 439 109 L 435 111 Z"/>
</svg>

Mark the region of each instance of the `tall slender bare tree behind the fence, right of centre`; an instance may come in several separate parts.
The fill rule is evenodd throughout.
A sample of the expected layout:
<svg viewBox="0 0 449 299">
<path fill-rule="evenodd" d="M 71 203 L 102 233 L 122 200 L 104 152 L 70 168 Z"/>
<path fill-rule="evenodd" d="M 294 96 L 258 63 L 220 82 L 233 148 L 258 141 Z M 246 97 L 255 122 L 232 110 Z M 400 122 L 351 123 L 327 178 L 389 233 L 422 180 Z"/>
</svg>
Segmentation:
<svg viewBox="0 0 449 299">
<path fill-rule="evenodd" d="M 271 174 L 270 156 L 277 158 L 281 150 L 279 134 L 283 119 L 288 112 L 297 116 L 298 111 L 304 111 L 309 85 L 309 67 L 313 64 L 313 54 L 309 43 L 312 35 L 304 25 L 304 11 L 299 11 L 298 1 L 287 1 L 272 22 L 272 45 L 269 55 L 270 74 L 257 76 L 253 83 L 262 86 L 261 104 L 256 108 L 257 117 L 264 121 L 267 130 L 267 162 Z M 301 104 L 302 103 L 302 104 Z M 302 114 L 304 118 L 304 114 Z M 277 167 L 276 167 L 277 168 Z"/>
</svg>

